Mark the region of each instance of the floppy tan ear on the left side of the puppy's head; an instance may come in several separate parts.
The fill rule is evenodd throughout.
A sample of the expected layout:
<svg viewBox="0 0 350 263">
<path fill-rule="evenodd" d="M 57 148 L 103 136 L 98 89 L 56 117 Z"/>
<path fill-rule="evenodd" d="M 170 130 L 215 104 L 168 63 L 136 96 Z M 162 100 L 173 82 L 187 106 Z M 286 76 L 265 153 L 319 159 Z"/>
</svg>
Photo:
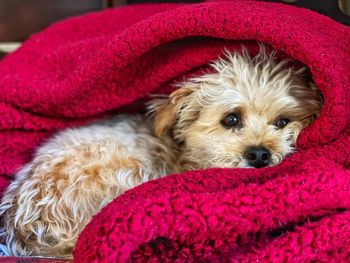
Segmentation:
<svg viewBox="0 0 350 263">
<path fill-rule="evenodd" d="M 177 113 L 184 105 L 186 98 L 193 91 L 189 88 L 179 88 L 170 94 L 169 98 L 155 101 L 152 105 L 154 111 L 154 133 L 161 137 L 174 125 Z"/>
</svg>

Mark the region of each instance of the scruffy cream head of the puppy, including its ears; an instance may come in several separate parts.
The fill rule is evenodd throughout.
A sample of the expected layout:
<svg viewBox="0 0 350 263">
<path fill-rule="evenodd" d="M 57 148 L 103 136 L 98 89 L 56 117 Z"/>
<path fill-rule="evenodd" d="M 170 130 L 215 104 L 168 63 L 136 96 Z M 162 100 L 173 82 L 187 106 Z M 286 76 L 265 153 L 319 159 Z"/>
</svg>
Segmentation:
<svg viewBox="0 0 350 263">
<path fill-rule="evenodd" d="M 264 48 L 227 54 L 215 73 L 189 79 L 155 101 L 155 133 L 181 148 L 185 170 L 265 167 L 293 151 L 300 131 L 319 114 L 322 99 L 302 69 L 276 62 Z"/>
</svg>

